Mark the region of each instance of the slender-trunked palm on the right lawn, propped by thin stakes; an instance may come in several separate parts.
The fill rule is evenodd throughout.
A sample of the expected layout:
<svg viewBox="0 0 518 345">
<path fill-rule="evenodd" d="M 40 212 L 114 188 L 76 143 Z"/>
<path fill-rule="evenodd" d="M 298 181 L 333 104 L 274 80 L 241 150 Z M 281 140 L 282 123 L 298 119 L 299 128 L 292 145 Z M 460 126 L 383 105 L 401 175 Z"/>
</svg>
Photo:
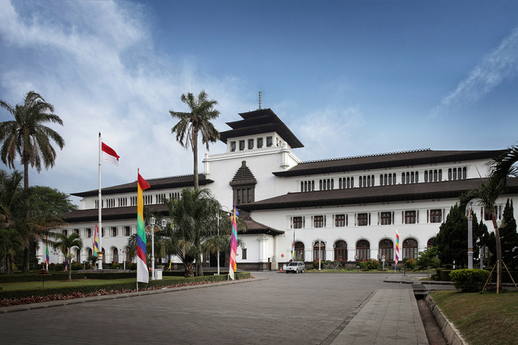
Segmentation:
<svg viewBox="0 0 518 345">
<path fill-rule="evenodd" d="M 482 206 L 485 213 L 491 215 L 493 228 L 495 228 L 495 237 L 497 239 L 497 286 L 501 283 L 502 273 L 502 248 L 500 242 L 500 232 L 497 224 L 497 199 L 503 193 L 503 185 L 494 176 L 490 176 L 488 179 L 481 179 L 481 184 L 478 188 L 468 190 L 463 193 L 459 198 L 461 209 L 466 210 L 468 203 L 476 199 L 476 204 Z"/>
</svg>

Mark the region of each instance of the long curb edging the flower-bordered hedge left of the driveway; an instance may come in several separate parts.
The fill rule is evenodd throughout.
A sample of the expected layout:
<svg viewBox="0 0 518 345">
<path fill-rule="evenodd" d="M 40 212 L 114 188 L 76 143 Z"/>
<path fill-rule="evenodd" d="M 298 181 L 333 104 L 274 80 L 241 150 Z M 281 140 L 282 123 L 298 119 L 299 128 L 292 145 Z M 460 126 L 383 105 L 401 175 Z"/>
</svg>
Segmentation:
<svg viewBox="0 0 518 345">
<path fill-rule="evenodd" d="M 193 288 L 209 288 L 212 286 L 259 282 L 261 280 L 268 280 L 268 278 L 249 278 L 249 279 L 242 279 L 242 280 L 234 280 L 231 282 L 214 282 L 211 284 L 178 286 L 177 288 L 161 288 L 161 289 L 157 289 L 157 290 L 135 291 L 132 293 L 117 293 L 117 294 L 113 294 L 113 295 L 74 298 L 74 299 L 66 299 L 66 300 L 61 300 L 61 301 L 50 301 L 50 302 L 41 302 L 41 303 L 33 303 L 33 304 L 20 304 L 18 306 L 3 306 L 3 307 L 0 307 L 0 314 L 15 313 L 17 311 L 33 311 L 35 309 L 52 308 L 54 306 L 68 306 L 70 304 L 97 302 L 97 301 L 104 301 L 105 299 L 140 297 L 140 296 L 146 296 L 146 295 L 156 295 L 158 293 L 174 293 L 176 291 L 191 290 Z"/>
</svg>

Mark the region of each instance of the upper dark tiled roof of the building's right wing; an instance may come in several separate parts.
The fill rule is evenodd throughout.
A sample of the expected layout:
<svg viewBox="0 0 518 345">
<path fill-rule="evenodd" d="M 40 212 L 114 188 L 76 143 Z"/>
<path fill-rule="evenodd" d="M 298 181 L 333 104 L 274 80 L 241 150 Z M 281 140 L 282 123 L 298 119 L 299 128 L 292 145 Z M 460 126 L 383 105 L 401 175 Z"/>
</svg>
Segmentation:
<svg viewBox="0 0 518 345">
<path fill-rule="evenodd" d="M 401 166 L 418 166 L 421 164 L 437 164 L 448 161 L 470 161 L 473 159 L 493 159 L 503 150 L 492 151 L 432 151 L 413 150 L 405 152 L 381 153 L 378 155 L 325 159 L 321 161 L 305 161 L 293 168 L 274 172 L 276 176 L 289 177 L 314 175 L 329 172 L 345 172 L 380 168 L 396 168 Z"/>
</svg>

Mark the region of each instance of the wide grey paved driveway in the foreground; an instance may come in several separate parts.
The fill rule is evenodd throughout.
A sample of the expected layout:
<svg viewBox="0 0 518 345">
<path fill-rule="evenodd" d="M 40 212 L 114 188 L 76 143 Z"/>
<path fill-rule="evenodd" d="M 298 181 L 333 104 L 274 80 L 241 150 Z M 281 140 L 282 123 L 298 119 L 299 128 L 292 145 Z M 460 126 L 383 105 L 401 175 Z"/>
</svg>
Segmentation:
<svg viewBox="0 0 518 345">
<path fill-rule="evenodd" d="M 260 280 L 3 313 L 1 343 L 428 344 L 412 284 L 387 274 L 252 274 Z"/>
</svg>

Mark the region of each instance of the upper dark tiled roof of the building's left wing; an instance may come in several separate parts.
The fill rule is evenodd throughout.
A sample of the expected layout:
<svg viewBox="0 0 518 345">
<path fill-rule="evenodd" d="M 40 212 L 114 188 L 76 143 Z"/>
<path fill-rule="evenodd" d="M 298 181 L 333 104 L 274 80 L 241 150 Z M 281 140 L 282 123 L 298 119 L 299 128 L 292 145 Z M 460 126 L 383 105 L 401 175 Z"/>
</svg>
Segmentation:
<svg viewBox="0 0 518 345">
<path fill-rule="evenodd" d="M 148 181 L 148 190 L 166 189 L 166 188 L 184 188 L 194 186 L 194 175 L 182 175 L 173 177 L 160 177 L 158 179 L 146 179 Z M 198 175 L 198 184 L 205 186 L 213 183 L 213 180 L 207 179 L 204 174 Z M 119 186 L 113 186 L 108 188 L 102 188 L 102 195 L 111 195 L 117 193 L 135 193 L 137 191 L 137 181 L 129 184 L 120 184 Z M 99 190 L 89 190 L 88 192 L 72 193 L 76 197 L 93 197 L 98 195 Z"/>
</svg>

